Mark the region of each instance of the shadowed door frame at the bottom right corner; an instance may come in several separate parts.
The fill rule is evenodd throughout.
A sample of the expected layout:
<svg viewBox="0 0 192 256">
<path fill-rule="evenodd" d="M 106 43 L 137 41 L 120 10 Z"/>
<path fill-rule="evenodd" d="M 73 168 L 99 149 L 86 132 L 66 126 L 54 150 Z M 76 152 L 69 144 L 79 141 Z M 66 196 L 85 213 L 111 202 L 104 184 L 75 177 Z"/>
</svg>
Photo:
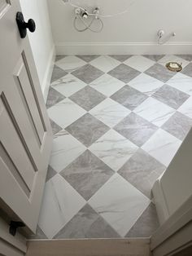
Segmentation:
<svg viewBox="0 0 192 256">
<path fill-rule="evenodd" d="M 192 196 L 151 236 L 154 256 L 173 255 L 192 245 Z"/>
</svg>

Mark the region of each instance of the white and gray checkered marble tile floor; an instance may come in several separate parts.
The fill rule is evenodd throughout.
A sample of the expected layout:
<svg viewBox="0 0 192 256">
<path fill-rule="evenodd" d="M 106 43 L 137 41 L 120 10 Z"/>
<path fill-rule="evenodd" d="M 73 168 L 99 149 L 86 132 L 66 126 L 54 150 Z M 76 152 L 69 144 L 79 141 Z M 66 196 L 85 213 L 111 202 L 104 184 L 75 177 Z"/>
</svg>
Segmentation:
<svg viewBox="0 0 192 256">
<path fill-rule="evenodd" d="M 151 188 L 192 126 L 192 55 L 57 56 L 46 105 L 54 143 L 33 238 L 151 236 Z"/>
</svg>

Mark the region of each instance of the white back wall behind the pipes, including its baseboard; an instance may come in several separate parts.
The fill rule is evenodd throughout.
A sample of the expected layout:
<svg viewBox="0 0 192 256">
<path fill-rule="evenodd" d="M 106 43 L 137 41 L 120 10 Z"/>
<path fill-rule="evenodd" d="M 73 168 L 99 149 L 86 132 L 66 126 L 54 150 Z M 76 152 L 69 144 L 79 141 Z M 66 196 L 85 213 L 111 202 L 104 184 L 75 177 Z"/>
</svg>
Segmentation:
<svg viewBox="0 0 192 256">
<path fill-rule="evenodd" d="M 103 18 L 102 33 L 76 32 L 72 26 L 73 8 L 61 0 L 48 2 L 58 53 L 192 52 L 191 0 L 71 0 L 88 10 L 99 6 L 107 14 L 124 11 L 133 2 L 128 13 Z M 170 41 L 173 48 L 156 45 L 159 29 L 164 29 L 167 35 L 173 31 L 177 33 L 177 37 Z"/>
</svg>

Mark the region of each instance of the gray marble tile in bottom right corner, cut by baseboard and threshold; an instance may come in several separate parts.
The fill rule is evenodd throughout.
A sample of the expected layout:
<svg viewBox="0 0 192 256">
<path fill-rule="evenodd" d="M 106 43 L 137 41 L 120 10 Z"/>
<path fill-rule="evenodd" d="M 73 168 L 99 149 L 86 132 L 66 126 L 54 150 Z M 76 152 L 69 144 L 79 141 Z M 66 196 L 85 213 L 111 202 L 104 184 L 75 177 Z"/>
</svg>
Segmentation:
<svg viewBox="0 0 192 256">
<path fill-rule="evenodd" d="M 150 237 L 159 228 L 155 205 L 151 203 L 129 230 L 126 237 Z"/>
</svg>

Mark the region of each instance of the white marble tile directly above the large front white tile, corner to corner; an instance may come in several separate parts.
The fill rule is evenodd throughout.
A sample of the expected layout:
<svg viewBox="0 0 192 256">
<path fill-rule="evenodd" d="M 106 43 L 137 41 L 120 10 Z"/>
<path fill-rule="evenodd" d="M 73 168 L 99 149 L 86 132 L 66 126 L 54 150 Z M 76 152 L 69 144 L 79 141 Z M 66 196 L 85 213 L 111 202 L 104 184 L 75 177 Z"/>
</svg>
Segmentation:
<svg viewBox="0 0 192 256">
<path fill-rule="evenodd" d="M 89 147 L 112 170 L 118 171 L 137 151 L 137 146 L 115 130 L 109 130 Z"/>
</svg>

